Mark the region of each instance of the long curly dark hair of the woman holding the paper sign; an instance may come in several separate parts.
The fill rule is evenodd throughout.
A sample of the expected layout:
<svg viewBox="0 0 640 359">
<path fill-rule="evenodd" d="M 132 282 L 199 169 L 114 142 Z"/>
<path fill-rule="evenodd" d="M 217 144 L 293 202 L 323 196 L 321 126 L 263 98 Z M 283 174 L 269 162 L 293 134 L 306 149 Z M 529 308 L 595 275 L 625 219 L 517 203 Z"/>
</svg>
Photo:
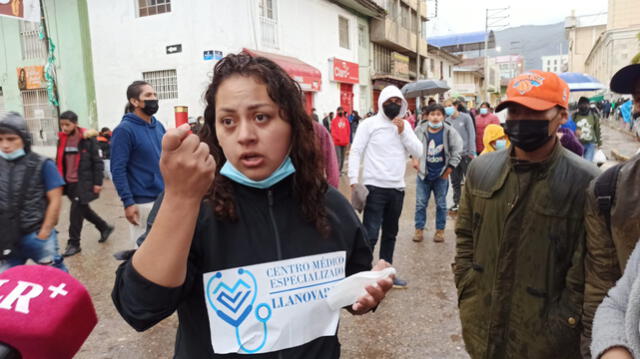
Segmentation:
<svg viewBox="0 0 640 359">
<path fill-rule="evenodd" d="M 217 163 L 216 178 L 207 194 L 217 218 L 237 220 L 231 180 L 220 175 L 227 158 L 216 135 L 216 93 L 220 85 L 234 75 L 250 76 L 267 86 L 273 102 L 280 107 L 280 116 L 291 125 L 291 160 L 296 168 L 293 175 L 293 195 L 300 204 L 304 218 L 323 235 L 329 235 L 329 222 L 324 205 L 327 181 L 324 160 L 311 117 L 305 112 L 300 86 L 275 62 L 253 57 L 245 52 L 229 54 L 213 70 L 213 80 L 205 93 L 205 125 L 200 139 L 209 145 Z"/>
</svg>

